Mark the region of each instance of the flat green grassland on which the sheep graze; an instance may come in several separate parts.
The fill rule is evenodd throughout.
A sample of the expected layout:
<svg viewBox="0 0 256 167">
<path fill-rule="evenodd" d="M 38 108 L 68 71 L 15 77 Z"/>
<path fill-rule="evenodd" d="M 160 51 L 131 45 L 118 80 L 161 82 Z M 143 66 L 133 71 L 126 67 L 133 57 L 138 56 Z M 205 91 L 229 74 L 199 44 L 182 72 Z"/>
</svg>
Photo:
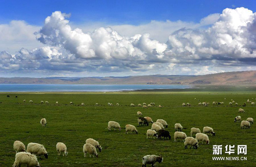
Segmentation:
<svg viewBox="0 0 256 167">
<path fill-rule="evenodd" d="M 7 98 L 7 95 L 11 97 Z M 15 98 L 18 96 L 18 98 Z M 196 100 L 194 100 L 196 98 Z M 224 100 L 226 98 L 227 100 Z M 252 100 L 253 98 L 253 100 Z M 208 92 L 116 92 L 116 93 L 0 93 L 0 166 L 10 167 L 15 161 L 13 142 L 22 141 L 26 146 L 37 142 L 45 146 L 49 158 L 39 160 L 41 167 L 138 167 L 142 157 L 162 154 L 163 163 L 158 167 L 169 166 L 256 166 L 256 123 L 250 129 L 241 129 L 240 122 L 233 122 L 237 115 L 242 120 L 256 119 L 256 106 L 241 105 L 247 99 L 256 101 L 256 91 L 208 91 Z M 23 100 L 26 99 L 26 103 Z M 198 106 L 200 102 L 210 102 L 208 107 Z M 233 99 L 239 106 L 228 106 Z M 34 104 L 29 104 L 33 100 Z M 47 100 L 49 105 L 39 104 Z M 58 105 L 55 102 L 58 101 Z M 72 101 L 74 105 L 70 105 Z M 224 102 L 213 106 L 212 102 Z M 114 106 L 108 106 L 107 103 Z M 156 106 L 143 109 L 130 107 L 131 103 Z M 191 107 L 182 107 L 182 103 Z M 85 106 L 79 104 L 85 103 Z M 95 106 L 95 103 L 100 104 Z M 115 104 L 119 103 L 120 106 Z M 238 113 L 243 108 L 245 113 Z M 139 127 L 136 112 L 156 121 L 164 119 L 171 140 L 147 139 L 150 126 Z M 40 120 L 47 120 L 42 127 Z M 121 131 L 107 130 L 108 122 L 116 121 Z M 184 132 L 190 136 L 192 127 L 210 126 L 215 137 L 209 136 L 210 144 L 200 144 L 198 149 L 184 149 L 184 142 L 174 142 L 174 124 L 181 123 Z M 139 134 L 125 134 L 126 124 L 136 126 Z M 94 138 L 102 146 L 98 158 L 83 157 L 83 145 L 87 138 Z M 57 156 L 56 143 L 67 145 L 68 156 Z M 245 161 L 213 161 L 212 146 L 222 145 L 222 156 L 245 156 Z M 225 153 L 226 145 L 235 145 L 235 153 Z M 237 155 L 237 145 L 247 145 L 247 155 Z M 25 166 L 25 165 L 24 165 Z"/>
</svg>

